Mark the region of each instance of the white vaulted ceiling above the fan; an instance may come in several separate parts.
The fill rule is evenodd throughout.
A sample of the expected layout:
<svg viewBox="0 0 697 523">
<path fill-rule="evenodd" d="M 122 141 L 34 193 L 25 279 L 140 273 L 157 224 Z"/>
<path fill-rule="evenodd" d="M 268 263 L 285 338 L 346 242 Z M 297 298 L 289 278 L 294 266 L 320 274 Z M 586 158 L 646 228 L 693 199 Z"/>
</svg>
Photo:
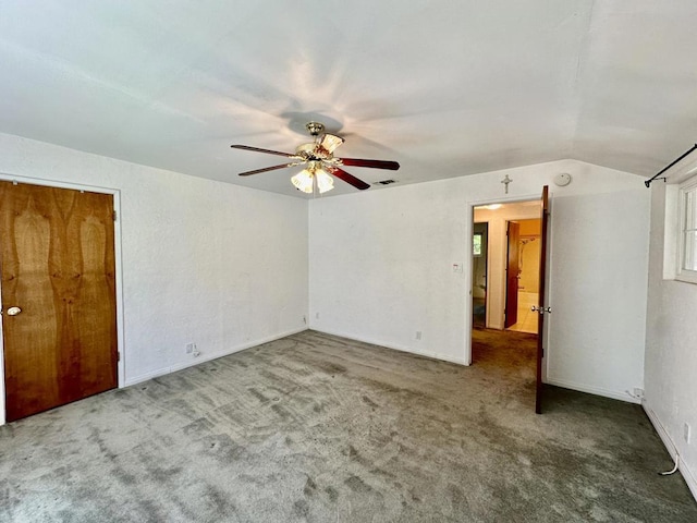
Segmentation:
<svg viewBox="0 0 697 523">
<path fill-rule="evenodd" d="M 696 27 L 695 0 L 2 0 L 0 132 L 296 196 L 230 144 L 292 153 L 319 120 L 402 165 L 346 169 L 369 183 L 648 177 L 697 141 Z"/>
</svg>

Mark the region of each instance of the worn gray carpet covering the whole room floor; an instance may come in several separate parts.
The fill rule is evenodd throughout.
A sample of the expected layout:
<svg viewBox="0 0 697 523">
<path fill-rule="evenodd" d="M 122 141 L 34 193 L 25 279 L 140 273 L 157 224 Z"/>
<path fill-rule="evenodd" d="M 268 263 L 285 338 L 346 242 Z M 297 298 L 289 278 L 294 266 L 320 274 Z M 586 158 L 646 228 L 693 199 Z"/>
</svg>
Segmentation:
<svg viewBox="0 0 697 523">
<path fill-rule="evenodd" d="M 0 427 L 12 522 L 696 522 L 637 405 L 306 331 Z M 503 337 L 503 338 L 502 338 Z"/>
</svg>

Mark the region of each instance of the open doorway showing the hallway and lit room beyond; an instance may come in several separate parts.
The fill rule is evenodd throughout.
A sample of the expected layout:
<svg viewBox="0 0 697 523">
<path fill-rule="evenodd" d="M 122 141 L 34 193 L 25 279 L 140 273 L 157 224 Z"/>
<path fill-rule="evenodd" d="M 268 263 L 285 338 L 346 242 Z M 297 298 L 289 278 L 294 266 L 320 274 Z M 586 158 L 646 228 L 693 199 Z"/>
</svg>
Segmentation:
<svg viewBox="0 0 697 523">
<path fill-rule="evenodd" d="M 492 379 L 519 377 L 531 401 L 540 341 L 539 314 L 531 311 L 539 305 L 540 199 L 474 207 L 473 223 L 472 363 L 490 369 Z M 477 256 L 476 238 L 485 229 L 486 253 Z"/>
</svg>

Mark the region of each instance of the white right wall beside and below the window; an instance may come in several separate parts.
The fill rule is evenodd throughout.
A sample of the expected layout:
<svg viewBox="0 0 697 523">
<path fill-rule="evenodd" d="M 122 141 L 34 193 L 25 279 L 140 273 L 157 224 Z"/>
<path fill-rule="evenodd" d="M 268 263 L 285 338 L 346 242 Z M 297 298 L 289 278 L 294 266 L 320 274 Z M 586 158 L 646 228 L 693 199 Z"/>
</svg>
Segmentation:
<svg viewBox="0 0 697 523">
<path fill-rule="evenodd" d="M 663 279 L 665 188 L 651 185 L 644 406 L 697 498 L 697 285 Z"/>
</svg>

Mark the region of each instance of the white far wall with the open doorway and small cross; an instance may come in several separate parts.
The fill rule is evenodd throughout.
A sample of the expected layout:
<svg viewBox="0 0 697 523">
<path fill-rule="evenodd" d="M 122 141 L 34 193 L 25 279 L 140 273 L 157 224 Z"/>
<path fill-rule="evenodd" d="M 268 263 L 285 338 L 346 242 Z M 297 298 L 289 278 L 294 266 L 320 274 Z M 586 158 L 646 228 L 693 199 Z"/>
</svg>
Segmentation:
<svg viewBox="0 0 697 523">
<path fill-rule="evenodd" d="M 559 172 L 572 174 L 571 185 L 552 184 Z M 644 386 L 649 194 L 643 179 L 588 163 L 310 202 L 310 327 L 465 363 L 472 206 L 539 198 L 545 184 L 552 209 L 547 380 L 634 401 L 625 390 Z"/>
</svg>

